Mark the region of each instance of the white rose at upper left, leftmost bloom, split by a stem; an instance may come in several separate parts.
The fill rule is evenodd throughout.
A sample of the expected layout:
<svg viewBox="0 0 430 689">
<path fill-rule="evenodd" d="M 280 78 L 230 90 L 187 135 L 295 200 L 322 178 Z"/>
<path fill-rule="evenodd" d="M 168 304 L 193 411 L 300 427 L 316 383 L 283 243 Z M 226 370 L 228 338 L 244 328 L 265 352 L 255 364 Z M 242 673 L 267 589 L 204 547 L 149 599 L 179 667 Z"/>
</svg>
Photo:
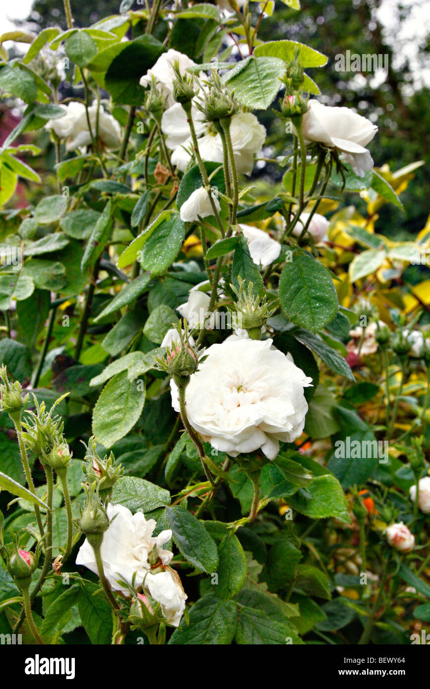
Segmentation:
<svg viewBox="0 0 430 689">
<path fill-rule="evenodd" d="M 90 119 L 90 125 L 92 134 L 95 138 L 97 133 L 97 103 L 90 105 L 88 108 L 88 116 Z M 99 106 L 99 141 L 103 143 L 106 148 L 118 148 L 121 144 L 121 127 L 116 119 L 103 110 L 103 107 Z M 67 141 L 65 142 L 65 150 L 73 151 L 81 146 L 88 146 L 92 143 L 90 130 L 88 129 L 87 116 L 84 112 L 81 112 L 79 117 L 76 119 L 72 132 L 70 132 Z"/>
</svg>

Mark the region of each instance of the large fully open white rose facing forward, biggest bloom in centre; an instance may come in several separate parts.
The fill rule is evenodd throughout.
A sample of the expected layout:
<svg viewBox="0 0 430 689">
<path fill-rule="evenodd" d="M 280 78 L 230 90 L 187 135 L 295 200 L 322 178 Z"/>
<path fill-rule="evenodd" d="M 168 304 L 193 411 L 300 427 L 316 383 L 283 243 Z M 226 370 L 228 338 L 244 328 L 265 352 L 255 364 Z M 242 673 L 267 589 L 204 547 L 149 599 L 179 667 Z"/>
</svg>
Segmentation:
<svg viewBox="0 0 430 689">
<path fill-rule="evenodd" d="M 292 442 L 305 426 L 303 389 L 312 379 L 271 347 L 272 340 L 247 339 L 212 345 L 187 385 L 185 401 L 193 428 L 232 457 L 261 449 L 274 460 L 279 442 Z M 174 381 L 170 387 L 178 411 Z"/>
</svg>

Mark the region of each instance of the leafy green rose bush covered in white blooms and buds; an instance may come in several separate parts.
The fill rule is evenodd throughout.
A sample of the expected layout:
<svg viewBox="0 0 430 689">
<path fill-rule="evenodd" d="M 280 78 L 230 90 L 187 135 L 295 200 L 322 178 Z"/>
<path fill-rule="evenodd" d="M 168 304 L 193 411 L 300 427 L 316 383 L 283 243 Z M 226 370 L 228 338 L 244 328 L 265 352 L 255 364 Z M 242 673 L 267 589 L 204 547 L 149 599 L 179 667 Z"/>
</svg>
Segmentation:
<svg viewBox="0 0 430 689">
<path fill-rule="evenodd" d="M 260 41 L 272 10 L 78 28 L 66 0 L 67 30 L 1 37 L 0 633 L 25 644 L 429 619 L 429 223 L 385 235 L 421 162 L 373 161 L 327 56 Z"/>
</svg>

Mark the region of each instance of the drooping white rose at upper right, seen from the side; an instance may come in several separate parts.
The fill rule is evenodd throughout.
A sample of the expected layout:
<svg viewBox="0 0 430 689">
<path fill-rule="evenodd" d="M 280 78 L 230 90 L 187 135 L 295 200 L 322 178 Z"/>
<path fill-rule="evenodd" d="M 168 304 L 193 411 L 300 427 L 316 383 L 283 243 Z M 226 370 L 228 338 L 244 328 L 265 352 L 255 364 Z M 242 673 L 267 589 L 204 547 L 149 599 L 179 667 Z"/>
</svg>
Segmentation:
<svg viewBox="0 0 430 689">
<path fill-rule="evenodd" d="M 348 107 L 331 107 L 313 99 L 303 115 L 302 130 L 305 141 L 318 141 L 341 151 L 345 163 L 360 177 L 373 168 L 373 158 L 365 146 L 378 127 Z"/>
</svg>

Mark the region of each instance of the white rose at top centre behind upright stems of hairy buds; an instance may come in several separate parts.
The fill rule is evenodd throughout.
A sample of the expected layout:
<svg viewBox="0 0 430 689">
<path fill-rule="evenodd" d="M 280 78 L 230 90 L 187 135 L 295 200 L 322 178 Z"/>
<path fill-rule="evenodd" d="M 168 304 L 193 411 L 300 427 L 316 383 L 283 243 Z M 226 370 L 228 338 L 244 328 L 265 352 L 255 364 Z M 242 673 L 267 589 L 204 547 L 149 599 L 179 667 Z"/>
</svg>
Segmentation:
<svg viewBox="0 0 430 689">
<path fill-rule="evenodd" d="M 208 123 L 203 123 L 203 115 L 196 108 L 192 110 L 192 116 L 196 135 L 199 137 L 198 150 L 203 160 L 223 163 L 221 136 L 213 132 Z M 188 150 L 192 138 L 183 108 L 181 107 L 180 112 L 174 105 L 166 110 L 161 119 L 161 129 L 166 136 L 166 145 L 174 150 L 172 163 L 179 169 L 185 170 L 190 162 Z M 265 127 L 258 122 L 252 112 L 238 112 L 232 116 L 230 136 L 238 172 L 250 174 L 254 166 L 254 154 L 260 152 L 265 142 Z"/>
</svg>

